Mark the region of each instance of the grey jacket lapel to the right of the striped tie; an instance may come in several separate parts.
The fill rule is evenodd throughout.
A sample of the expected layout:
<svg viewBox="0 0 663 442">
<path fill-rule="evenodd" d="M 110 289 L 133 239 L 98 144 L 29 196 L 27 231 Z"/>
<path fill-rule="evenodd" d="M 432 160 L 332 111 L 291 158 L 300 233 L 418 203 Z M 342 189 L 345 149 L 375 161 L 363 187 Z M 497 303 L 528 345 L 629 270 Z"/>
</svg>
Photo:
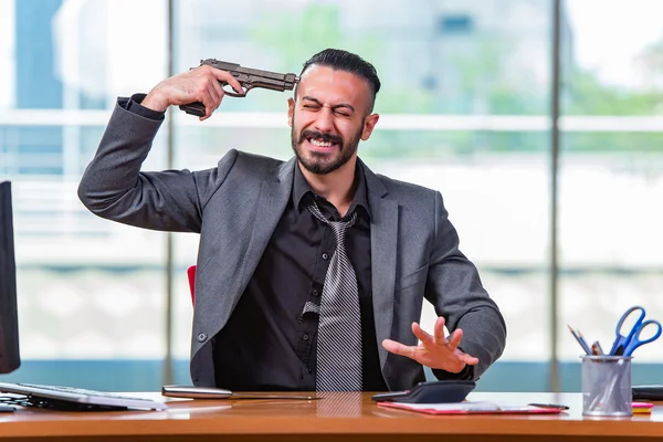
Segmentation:
<svg viewBox="0 0 663 442">
<path fill-rule="evenodd" d="M 360 160 L 359 160 L 360 161 Z M 398 203 L 385 198 L 387 189 L 382 182 L 364 167 L 368 204 L 370 207 L 370 256 L 372 273 L 373 316 L 378 339 L 380 367 L 385 369 L 388 352 L 382 339 L 391 338 L 393 322 L 393 288 L 396 283 L 396 253 L 398 239 Z"/>
</svg>

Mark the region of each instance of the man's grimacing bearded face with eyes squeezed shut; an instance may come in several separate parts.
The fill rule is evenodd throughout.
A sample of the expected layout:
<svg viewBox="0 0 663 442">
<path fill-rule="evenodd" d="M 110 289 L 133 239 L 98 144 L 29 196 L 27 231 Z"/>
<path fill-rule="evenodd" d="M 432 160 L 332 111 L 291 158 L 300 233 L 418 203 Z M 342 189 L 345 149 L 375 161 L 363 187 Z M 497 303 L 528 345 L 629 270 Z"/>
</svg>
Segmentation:
<svg viewBox="0 0 663 442">
<path fill-rule="evenodd" d="M 359 140 L 370 137 L 378 115 L 368 115 L 368 82 L 345 71 L 311 66 L 288 101 L 293 150 L 304 168 L 326 175 L 356 158 Z"/>
</svg>

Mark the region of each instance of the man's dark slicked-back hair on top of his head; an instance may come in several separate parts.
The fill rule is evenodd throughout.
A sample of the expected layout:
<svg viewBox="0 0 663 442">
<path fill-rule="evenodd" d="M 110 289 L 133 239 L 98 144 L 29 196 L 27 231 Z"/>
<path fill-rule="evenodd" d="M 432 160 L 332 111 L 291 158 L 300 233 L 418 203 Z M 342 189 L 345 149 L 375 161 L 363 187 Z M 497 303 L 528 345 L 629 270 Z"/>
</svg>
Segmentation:
<svg viewBox="0 0 663 442">
<path fill-rule="evenodd" d="M 372 64 L 351 52 L 340 49 L 326 49 L 313 55 L 306 63 L 304 63 L 301 75 L 303 75 L 304 72 L 306 72 L 306 70 L 314 64 L 317 66 L 332 67 L 336 71 L 349 72 L 366 80 L 372 92 L 372 99 L 369 106 L 369 112 L 372 112 L 372 107 L 376 102 L 376 95 L 380 91 L 380 78 L 378 78 L 378 72 Z M 295 90 L 295 97 L 296 96 Z"/>
</svg>

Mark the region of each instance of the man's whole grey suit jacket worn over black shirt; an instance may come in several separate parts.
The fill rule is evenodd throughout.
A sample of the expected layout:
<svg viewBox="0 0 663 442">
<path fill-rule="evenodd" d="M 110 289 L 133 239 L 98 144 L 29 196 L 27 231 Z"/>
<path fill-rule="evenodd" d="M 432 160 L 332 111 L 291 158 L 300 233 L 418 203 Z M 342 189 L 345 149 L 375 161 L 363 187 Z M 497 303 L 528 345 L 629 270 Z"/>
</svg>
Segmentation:
<svg viewBox="0 0 663 442">
<path fill-rule="evenodd" d="M 141 172 L 160 122 L 117 106 L 78 187 L 99 217 L 140 228 L 199 232 L 191 340 L 194 385 L 214 386 L 211 338 L 225 325 L 278 222 L 295 160 L 230 150 L 215 168 Z M 478 378 L 504 349 L 506 326 L 482 287 L 438 191 L 372 173 L 362 164 L 371 224 L 372 294 L 382 375 L 391 390 L 424 379 L 418 362 L 388 354 L 385 338 L 415 345 L 423 298 L 461 347 L 480 359 Z"/>
</svg>

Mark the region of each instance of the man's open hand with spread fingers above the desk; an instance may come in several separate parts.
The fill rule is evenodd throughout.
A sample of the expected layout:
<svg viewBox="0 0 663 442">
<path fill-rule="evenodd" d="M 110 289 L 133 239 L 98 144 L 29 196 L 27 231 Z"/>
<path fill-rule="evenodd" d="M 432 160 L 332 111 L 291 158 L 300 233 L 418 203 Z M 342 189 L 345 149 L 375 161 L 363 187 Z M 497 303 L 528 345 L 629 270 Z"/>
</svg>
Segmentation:
<svg viewBox="0 0 663 442">
<path fill-rule="evenodd" d="M 474 366 L 478 359 L 459 350 L 463 330 L 456 328 L 444 337 L 444 318 L 435 320 L 433 335 L 424 332 L 418 323 L 412 323 L 412 333 L 421 340 L 417 346 L 407 346 L 396 340 L 382 340 L 382 347 L 394 355 L 407 356 L 430 368 L 460 372 L 466 365 Z"/>
</svg>

